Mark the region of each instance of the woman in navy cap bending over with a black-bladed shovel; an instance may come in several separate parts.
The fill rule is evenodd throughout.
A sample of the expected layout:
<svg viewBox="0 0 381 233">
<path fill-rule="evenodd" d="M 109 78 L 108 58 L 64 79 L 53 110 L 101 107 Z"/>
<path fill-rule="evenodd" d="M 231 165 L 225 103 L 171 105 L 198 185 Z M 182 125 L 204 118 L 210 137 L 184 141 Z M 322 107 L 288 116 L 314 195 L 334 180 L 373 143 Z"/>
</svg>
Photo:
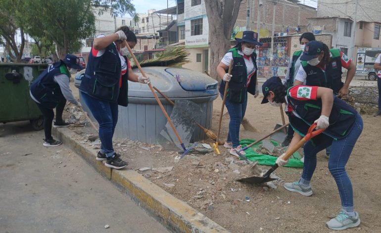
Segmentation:
<svg viewBox="0 0 381 233">
<path fill-rule="evenodd" d="M 272 77 L 263 84 L 262 92 L 262 104 L 270 103 L 275 107 L 286 104 L 286 114 L 295 130 L 287 150 L 307 134 L 313 123 L 317 123 L 316 129 L 325 129 L 323 133 L 304 144 L 301 178 L 292 183 L 285 183 L 285 188 L 303 196 L 311 196 L 313 190 L 310 181 L 316 169 L 316 154 L 332 145 L 328 168 L 338 187 L 341 211 L 326 225 L 333 230 L 359 226 L 360 218 L 353 207 L 352 183 L 345 166 L 363 129 L 361 116 L 351 106 L 334 96 L 330 88 L 299 85 L 286 90 L 279 77 Z M 280 167 L 288 162 L 283 159 L 284 155 L 276 161 Z"/>
</svg>

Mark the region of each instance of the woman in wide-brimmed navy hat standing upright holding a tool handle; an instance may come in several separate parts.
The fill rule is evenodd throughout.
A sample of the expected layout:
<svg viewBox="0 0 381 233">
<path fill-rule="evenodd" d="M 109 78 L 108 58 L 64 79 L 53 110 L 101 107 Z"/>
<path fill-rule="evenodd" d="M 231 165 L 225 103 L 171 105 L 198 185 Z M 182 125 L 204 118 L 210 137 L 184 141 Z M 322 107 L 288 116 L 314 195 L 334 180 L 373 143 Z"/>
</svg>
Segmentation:
<svg viewBox="0 0 381 233">
<path fill-rule="evenodd" d="M 239 126 L 245 116 L 247 92 L 256 98 L 259 95 L 257 80 L 257 55 L 255 47 L 262 45 L 258 42 L 258 34 L 244 31 L 242 39 L 236 38 L 238 44 L 230 49 L 217 66 L 217 74 L 222 79 L 220 94 L 224 96 L 226 82 L 229 82 L 225 106 L 230 115 L 229 133 L 224 147 L 231 148 L 230 154 L 238 157 L 235 149 L 240 149 Z M 229 64 L 233 60 L 232 73 L 229 74 Z M 244 154 L 242 151 L 241 153 Z"/>
</svg>

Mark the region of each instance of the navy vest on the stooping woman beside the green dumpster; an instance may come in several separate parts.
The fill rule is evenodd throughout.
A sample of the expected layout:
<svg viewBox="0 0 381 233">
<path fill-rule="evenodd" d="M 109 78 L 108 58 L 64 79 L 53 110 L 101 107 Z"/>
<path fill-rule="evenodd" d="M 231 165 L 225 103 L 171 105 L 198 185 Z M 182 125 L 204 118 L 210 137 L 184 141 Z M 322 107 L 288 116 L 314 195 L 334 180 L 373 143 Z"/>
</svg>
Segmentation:
<svg viewBox="0 0 381 233">
<path fill-rule="evenodd" d="M 65 74 L 70 79 L 69 70 L 62 60 L 50 65 L 31 84 L 30 92 L 33 97 L 46 108 L 54 109 L 63 98 L 61 88 L 54 81 L 54 76 L 59 74 Z"/>
</svg>

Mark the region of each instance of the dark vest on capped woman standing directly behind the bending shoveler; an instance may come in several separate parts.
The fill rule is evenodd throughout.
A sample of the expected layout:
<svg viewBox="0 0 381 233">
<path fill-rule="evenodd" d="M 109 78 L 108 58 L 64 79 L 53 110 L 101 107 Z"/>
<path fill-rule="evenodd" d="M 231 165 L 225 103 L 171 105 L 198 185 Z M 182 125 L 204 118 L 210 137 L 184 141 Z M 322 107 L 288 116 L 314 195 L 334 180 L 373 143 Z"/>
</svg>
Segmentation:
<svg viewBox="0 0 381 233">
<path fill-rule="evenodd" d="M 328 87 L 334 93 L 338 93 L 343 86 L 341 82 L 341 54 L 338 49 L 331 49 L 330 52 L 332 57 L 330 62 L 326 64 L 324 71 L 318 66 L 308 64 L 307 61 L 302 61 L 301 64 L 307 73 L 307 86 Z"/>
</svg>

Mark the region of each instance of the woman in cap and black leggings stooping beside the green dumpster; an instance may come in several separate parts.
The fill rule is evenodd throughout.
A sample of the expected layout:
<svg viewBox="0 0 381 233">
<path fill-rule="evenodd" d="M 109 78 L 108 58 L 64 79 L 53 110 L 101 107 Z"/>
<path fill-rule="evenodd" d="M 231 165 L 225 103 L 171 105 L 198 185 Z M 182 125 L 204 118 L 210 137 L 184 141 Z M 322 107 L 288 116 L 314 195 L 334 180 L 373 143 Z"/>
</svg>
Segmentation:
<svg viewBox="0 0 381 233">
<path fill-rule="evenodd" d="M 37 103 L 44 116 L 44 146 L 59 146 L 62 144 L 51 136 L 51 123 L 54 118 L 53 109 L 55 108 L 56 113 L 53 126 L 58 128 L 69 125 L 62 119 L 66 100 L 74 105 L 81 106 L 81 103 L 74 98 L 69 87 L 70 74 L 75 74 L 78 69 L 83 69 L 79 65 L 79 58 L 67 54 L 63 60 L 55 62 L 42 72 L 30 87 L 30 96 Z"/>
</svg>

